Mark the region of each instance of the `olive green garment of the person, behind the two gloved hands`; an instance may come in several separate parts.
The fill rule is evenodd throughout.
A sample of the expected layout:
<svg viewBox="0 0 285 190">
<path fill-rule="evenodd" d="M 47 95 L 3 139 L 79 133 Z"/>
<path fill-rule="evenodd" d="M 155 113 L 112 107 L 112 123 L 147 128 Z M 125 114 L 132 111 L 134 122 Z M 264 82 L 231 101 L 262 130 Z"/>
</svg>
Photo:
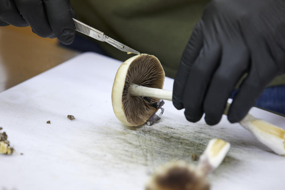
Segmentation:
<svg viewBox="0 0 285 190">
<path fill-rule="evenodd" d="M 156 56 L 165 74 L 175 77 L 192 29 L 209 0 L 71 0 L 78 20 L 139 51 Z M 96 41 L 113 58 L 127 55 Z M 274 84 L 284 84 L 281 77 Z"/>
</svg>

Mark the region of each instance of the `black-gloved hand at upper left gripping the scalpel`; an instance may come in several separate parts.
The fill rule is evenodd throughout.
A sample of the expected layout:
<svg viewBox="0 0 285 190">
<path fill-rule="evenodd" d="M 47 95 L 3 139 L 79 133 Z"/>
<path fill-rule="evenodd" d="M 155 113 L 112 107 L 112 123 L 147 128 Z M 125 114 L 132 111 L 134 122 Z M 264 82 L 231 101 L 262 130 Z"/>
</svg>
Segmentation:
<svg viewBox="0 0 285 190">
<path fill-rule="evenodd" d="M 40 37 L 71 44 L 75 36 L 69 0 L 1 0 L 0 26 L 31 26 Z"/>
</svg>

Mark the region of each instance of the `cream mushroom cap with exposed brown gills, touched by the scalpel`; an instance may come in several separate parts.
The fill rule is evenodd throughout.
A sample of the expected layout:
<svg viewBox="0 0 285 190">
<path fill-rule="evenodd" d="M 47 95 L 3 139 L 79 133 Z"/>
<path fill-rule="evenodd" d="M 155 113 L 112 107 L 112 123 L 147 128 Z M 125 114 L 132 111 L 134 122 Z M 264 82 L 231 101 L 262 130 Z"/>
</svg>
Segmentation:
<svg viewBox="0 0 285 190">
<path fill-rule="evenodd" d="M 163 88 L 164 70 L 160 61 L 152 55 L 140 54 L 126 60 L 119 67 L 112 90 L 112 105 L 116 117 L 127 126 L 144 124 L 157 111 L 140 96 L 131 96 L 133 84 L 150 88 Z M 158 99 L 152 99 L 157 102 Z"/>
</svg>

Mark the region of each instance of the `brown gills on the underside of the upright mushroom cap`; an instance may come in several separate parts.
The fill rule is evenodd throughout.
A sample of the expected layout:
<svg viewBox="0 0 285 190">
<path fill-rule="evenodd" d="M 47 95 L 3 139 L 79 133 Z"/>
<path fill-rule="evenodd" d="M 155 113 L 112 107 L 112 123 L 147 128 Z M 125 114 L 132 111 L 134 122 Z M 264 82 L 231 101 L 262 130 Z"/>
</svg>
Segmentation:
<svg viewBox="0 0 285 190">
<path fill-rule="evenodd" d="M 132 61 L 126 75 L 122 96 L 125 116 L 130 124 L 141 125 L 157 111 L 145 99 L 139 96 L 131 96 L 129 94 L 130 85 L 137 84 L 162 89 L 164 77 L 164 70 L 155 56 L 142 54 Z M 152 99 L 152 101 L 157 102 L 158 99 Z"/>
</svg>

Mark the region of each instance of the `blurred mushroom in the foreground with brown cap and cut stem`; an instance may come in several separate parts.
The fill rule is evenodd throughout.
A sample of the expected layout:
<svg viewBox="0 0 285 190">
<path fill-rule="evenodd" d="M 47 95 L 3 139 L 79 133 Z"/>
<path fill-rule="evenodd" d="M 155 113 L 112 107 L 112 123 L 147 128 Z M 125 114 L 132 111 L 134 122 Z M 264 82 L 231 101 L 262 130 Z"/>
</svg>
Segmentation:
<svg viewBox="0 0 285 190">
<path fill-rule="evenodd" d="M 206 180 L 224 160 L 230 144 L 221 139 L 210 140 L 197 166 L 185 161 L 170 162 L 159 167 L 146 185 L 146 190 L 208 190 Z"/>
</svg>

